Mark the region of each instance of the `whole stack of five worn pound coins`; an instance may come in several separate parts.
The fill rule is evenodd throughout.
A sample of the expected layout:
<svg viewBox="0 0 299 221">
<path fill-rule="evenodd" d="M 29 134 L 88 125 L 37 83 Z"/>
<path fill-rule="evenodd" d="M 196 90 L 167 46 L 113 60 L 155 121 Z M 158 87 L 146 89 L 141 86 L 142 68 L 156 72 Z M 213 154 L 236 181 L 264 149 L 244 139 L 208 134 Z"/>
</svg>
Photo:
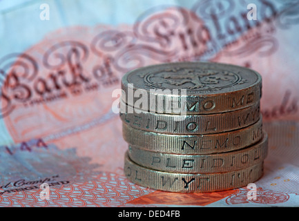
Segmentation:
<svg viewBox="0 0 299 221">
<path fill-rule="evenodd" d="M 120 117 L 124 172 L 151 189 L 204 193 L 262 176 L 262 78 L 229 64 L 178 62 L 126 73 Z"/>
</svg>

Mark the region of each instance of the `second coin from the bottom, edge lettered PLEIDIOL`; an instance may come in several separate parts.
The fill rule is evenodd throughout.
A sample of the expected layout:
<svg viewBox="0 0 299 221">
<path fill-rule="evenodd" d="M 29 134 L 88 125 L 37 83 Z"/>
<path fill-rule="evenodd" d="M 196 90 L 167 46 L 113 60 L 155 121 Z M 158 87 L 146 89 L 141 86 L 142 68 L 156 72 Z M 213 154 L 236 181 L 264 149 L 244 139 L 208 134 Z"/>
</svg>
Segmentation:
<svg viewBox="0 0 299 221">
<path fill-rule="evenodd" d="M 129 146 L 128 156 L 141 166 L 172 173 L 219 173 L 237 171 L 258 164 L 267 157 L 268 136 L 253 146 L 239 151 L 209 155 L 177 155 L 145 151 Z"/>
</svg>

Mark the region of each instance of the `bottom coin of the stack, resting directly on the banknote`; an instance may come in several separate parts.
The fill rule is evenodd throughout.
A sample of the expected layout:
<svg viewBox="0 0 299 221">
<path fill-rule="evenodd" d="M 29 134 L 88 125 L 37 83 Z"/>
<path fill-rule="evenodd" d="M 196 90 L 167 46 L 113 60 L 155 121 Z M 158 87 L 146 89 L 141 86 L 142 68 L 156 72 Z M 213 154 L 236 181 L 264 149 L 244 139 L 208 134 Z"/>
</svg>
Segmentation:
<svg viewBox="0 0 299 221">
<path fill-rule="evenodd" d="M 263 162 L 239 171 L 226 173 L 167 173 L 135 164 L 125 155 L 124 173 L 128 180 L 140 186 L 180 193 L 206 193 L 247 186 L 263 173 Z"/>
</svg>

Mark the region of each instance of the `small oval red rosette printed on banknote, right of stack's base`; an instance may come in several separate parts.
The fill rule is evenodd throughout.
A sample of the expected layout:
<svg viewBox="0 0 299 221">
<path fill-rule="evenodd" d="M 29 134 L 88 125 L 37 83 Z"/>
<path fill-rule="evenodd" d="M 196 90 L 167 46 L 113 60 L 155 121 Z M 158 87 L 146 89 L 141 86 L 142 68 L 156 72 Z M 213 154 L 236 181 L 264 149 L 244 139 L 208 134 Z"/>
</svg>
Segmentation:
<svg viewBox="0 0 299 221">
<path fill-rule="evenodd" d="M 289 195 L 271 190 L 257 189 L 256 199 L 247 197 L 249 189 L 238 189 L 237 193 L 226 198 L 227 204 L 260 203 L 260 204 L 278 204 L 287 202 Z"/>
</svg>

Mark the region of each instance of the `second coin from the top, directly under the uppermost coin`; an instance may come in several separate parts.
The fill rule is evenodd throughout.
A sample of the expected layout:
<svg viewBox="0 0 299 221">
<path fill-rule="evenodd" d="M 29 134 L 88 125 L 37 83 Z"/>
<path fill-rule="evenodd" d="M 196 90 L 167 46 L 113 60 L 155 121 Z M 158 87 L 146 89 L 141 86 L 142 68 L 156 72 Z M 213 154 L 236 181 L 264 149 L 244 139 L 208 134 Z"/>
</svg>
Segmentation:
<svg viewBox="0 0 299 221">
<path fill-rule="evenodd" d="M 211 134 L 247 127 L 260 119 L 260 102 L 238 111 L 213 115 L 166 115 L 135 110 L 121 102 L 124 124 L 142 131 L 165 134 Z"/>
</svg>

